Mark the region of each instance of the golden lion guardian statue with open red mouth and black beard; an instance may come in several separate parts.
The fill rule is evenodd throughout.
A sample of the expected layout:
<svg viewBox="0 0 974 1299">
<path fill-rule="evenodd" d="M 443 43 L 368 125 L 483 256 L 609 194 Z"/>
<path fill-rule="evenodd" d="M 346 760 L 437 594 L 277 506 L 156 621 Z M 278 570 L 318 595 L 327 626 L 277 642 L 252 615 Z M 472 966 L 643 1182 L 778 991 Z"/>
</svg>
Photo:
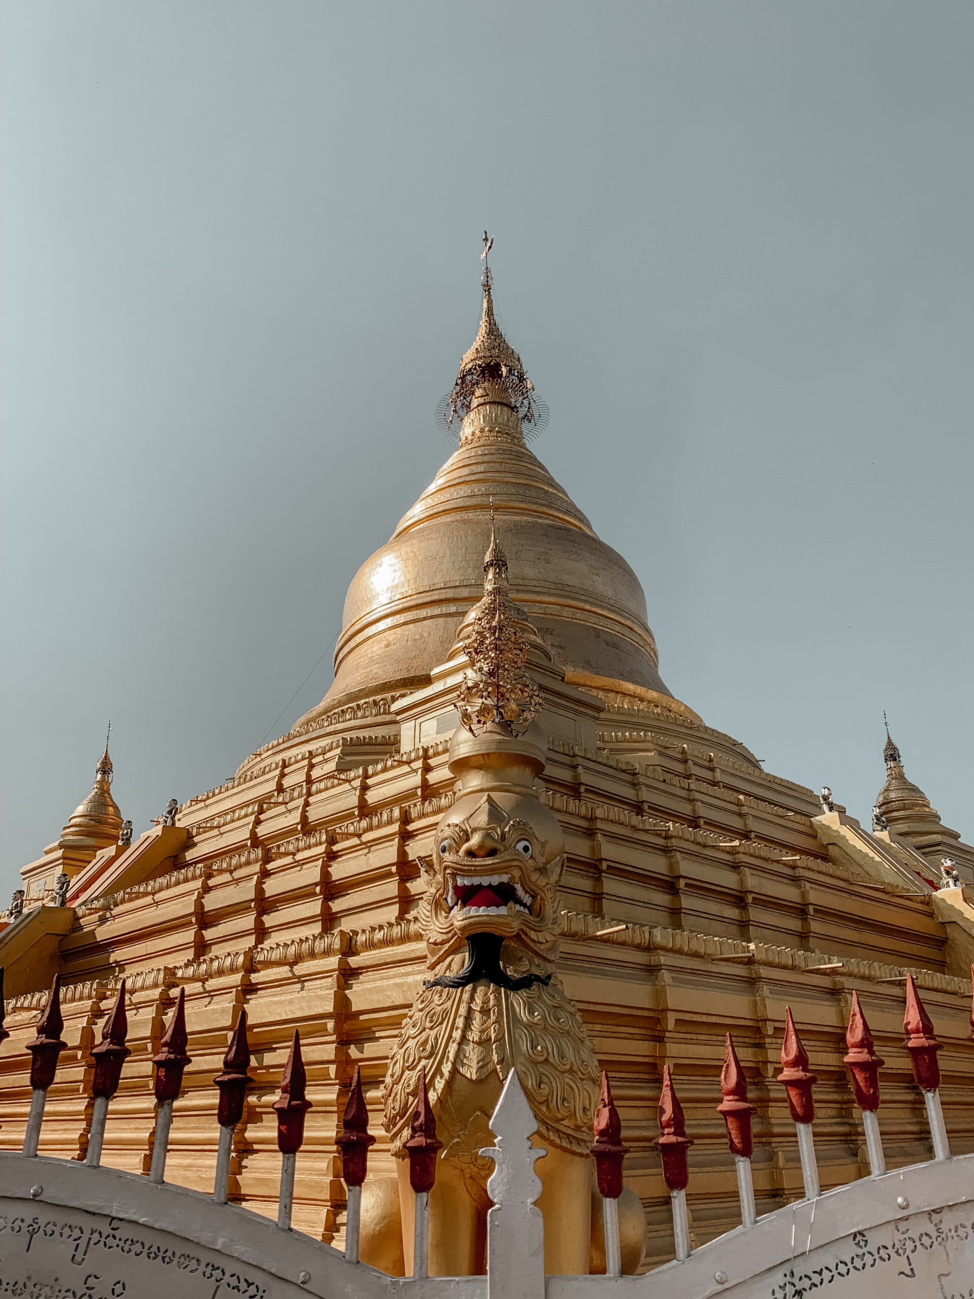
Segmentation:
<svg viewBox="0 0 974 1299">
<path fill-rule="evenodd" d="M 493 1144 L 490 1116 L 510 1069 L 517 1069 L 538 1120 L 535 1141 L 548 1151 L 536 1165 L 545 1270 L 590 1270 L 590 1147 L 600 1070 L 555 973 L 565 852 L 561 826 L 535 788 L 544 768 L 539 742 L 536 725 L 522 738 L 503 724 L 475 737 L 456 731 L 449 765 L 458 777 L 457 799 L 439 824 L 432 859 L 421 863 L 426 891 L 419 924 L 430 977 L 403 1025 L 384 1087 L 384 1126 L 399 1156 L 406 1273 L 413 1194 L 403 1144 L 421 1069 L 443 1142 L 430 1192 L 430 1272 L 484 1270 L 493 1165 L 479 1151 Z M 377 1186 L 374 1194 L 378 1208 L 383 1191 Z M 388 1225 L 388 1189 L 384 1199 Z M 626 1270 L 635 1270 L 643 1211 L 632 1192 L 621 1208 Z M 368 1259 L 378 1243 L 370 1248 L 368 1209 L 362 1225 Z"/>
</svg>

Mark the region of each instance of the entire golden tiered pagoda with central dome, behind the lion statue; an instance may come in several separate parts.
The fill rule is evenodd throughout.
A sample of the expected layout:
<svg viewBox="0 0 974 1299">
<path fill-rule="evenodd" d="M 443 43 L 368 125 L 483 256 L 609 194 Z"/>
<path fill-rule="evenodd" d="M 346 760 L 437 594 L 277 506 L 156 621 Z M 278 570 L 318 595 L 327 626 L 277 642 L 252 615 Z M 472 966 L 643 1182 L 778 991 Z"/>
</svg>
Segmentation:
<svg viewBox="0 0 974 1299">
<path fill-rule="evenodd" d="M 471 683 L 471 661 L 483 660 L 471 646 L 487 635 L 491 600 L 503 599 L 522 655 L 504 707 L 534 720 L 530 737 L 517 740 L 527 756 L 512 757 L 497 740 L 506 756 L 495 768 L 518 779 L 531 773 L 544 817 L 557 820 L 564 839 L 551 950 L 558 987 L 578 1008 L 622 1115 L 626 1182 L 645 1211 L 645 1257 L 640 1264 L 636 1250 L 630 1264 L 673 1254 L 653 1146 L 665 1066 L 695 1142 L 693 1243 L 739 1221 L 734 1156 L 714 1112 L 729 1030 L 758 1111 L 758 1209 L 801 1196 L 795 1125 L 777 1081 L 786 1005 L 818 1076 L 823 1186 L 869 1172 L 843 1064 L 853 992 L 888 1061 L 887 1161 L 927 1155 L 922 1099 L 900 1050 L 908 972 L 944 1043 L 940 1096 L 952 1147 L 974 1150 L 965 1051 L 974 848 L 906 781 L 892 740 L 870 831 L 840 804 L 823 809 L 812 790 L 762 770 L 740 740 L 670 694 L 638 577 L 527 446 L 525 429 L 540 407 L 497 325 L 490 271 L 482 305 L 449 399 L 458 447 L 353 578 L 322 701 L 245 757 L 232 779 L 130 843 L 118 842 L 105 750 L 91 796 L 58 843 L 25 868 L 22 912 L 0 918 L 10 1031 L 0 1050 L 0 1147 L 19 1147 L 30 1104 L 23 1048 L 60 973 L 68 1050 L 40 1148 L 84 1156 L 92 1034 L 125 977 L 132 1055 L 104 1164 L 149 1169 L 151 1061 L 184 989 L 192 1064 L 174 1108 L 173 1179 L 213 1182 L 212 1078 L 245 1007 L 256 1083 L 234 1135 L 231 1198 L 277 1209 L 270 1104 L 299 1028 L 313 1108 L 295 1225 L 343 1238 L 335 1138 L 356 1066 L 379 1138 L 364 1213 L 374 1222 L 393 1213 L 397 1147 L 381 1126 L 382 1089 L 427 973 L 423 872 L 439 851 L 438 825 L 470 779 L 457 753 L 471 751 L 455 747 L 451 756 L 451 743 L 490 699 L 483 673 Z M 934 864 L 947 848 L 961 887 L 939 890 Z M 51 904 L 49 883 L 36 886 L 58 873 L 70 877 L 65 905 Z M 590 1086 L 593 1066 L 586 1068 Z M 384 1252 L 364 1257 L 401 1273 L 396 1239 L 387 1233 Z"/>
</svg>

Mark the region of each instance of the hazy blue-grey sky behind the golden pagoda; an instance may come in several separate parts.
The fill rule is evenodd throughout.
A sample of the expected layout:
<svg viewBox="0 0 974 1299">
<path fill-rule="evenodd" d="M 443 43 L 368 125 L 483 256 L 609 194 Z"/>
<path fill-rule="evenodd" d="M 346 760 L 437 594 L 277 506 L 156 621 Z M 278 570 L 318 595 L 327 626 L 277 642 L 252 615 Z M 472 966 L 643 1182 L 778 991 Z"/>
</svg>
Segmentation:
<svg viewBox="0 0 974 1299">
<path fill-rule="evenodd" d="M 670 688 L 864 820 L 886 708 L 974 837 L 971 66 L 969 0 L 5 0 L 0 890 L 109 717 L 142 830 L 325 694 L 484 226 Z"/>
</svg>

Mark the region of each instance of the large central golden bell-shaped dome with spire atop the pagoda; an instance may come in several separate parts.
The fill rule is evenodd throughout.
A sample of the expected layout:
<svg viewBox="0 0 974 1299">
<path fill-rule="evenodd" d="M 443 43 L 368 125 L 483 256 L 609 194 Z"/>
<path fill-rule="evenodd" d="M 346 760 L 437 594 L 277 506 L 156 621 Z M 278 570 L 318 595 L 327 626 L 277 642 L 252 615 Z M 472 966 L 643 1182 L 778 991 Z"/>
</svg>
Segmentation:
<svg viewBox="0 0 974 1299">
<path fill-rule="evenodd" d="M 493 314 L 490 274 L 474 346 L 452 394 L 460 447 L 345 596 L 335 681 L 297 722 L 369 696 L 418 688 L 444 662 L 481 599 L 491 509 L 510 553 L 510 598 L 570 681 L 671 699 L 657 670 L 645 596 L 632 569 L 525 443 L 532 385 Z"/>
</svg>

